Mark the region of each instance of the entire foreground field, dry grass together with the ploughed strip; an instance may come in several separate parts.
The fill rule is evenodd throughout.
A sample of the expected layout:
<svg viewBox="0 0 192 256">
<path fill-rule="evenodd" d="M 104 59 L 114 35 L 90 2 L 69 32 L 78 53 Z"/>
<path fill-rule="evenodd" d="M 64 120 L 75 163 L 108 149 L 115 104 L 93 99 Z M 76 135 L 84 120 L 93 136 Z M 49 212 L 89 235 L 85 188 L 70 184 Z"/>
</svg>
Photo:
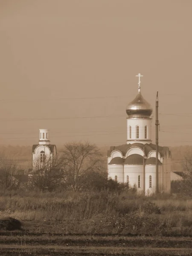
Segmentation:
<svg viewBox="0 0 192 256">
<path fill-rule="evenodd" d="M 0 218 L 0 255 L 192 255 L 192 200 L 130 192 L 12 192 Z"/>
</svg>

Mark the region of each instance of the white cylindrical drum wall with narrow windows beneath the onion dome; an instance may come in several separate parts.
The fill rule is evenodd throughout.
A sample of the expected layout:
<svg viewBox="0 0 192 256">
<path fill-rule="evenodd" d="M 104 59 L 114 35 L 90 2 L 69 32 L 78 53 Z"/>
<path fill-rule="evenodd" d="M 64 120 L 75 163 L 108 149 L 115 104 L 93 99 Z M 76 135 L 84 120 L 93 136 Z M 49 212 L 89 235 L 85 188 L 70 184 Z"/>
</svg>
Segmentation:
<svg viewBox="0 0 192 256">
<path fill-rule="evenodd" d="M 136 126 L 139 126 L 139 138 L 137 138 Z M 147 126 L 147 138 L 145 138 L 145 125 Z M 131 126 L 131 137 L 130 129 Z M 131 140 L 142 140 L 140 143 L 145 144 L 146 141 L 151 140 L 151 119 L 149 118 L 127 118 L 127 143 L 135 143 Z"/>
</svg>

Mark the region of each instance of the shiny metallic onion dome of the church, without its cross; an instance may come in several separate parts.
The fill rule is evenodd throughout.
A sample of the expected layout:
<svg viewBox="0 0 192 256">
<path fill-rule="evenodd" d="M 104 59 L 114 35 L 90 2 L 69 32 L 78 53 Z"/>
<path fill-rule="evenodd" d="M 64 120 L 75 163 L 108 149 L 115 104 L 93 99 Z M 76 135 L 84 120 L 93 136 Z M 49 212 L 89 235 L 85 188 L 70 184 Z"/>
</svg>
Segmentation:
<svg viewBox="0 0 192 256">
<path fill-rule="evenodd" d="M 149 117 L 152 112 L 153 109 L 151 105 L 143 98 L 140 91 L 126 108 L 126 113 L 129 117 Z"/>
</svg>

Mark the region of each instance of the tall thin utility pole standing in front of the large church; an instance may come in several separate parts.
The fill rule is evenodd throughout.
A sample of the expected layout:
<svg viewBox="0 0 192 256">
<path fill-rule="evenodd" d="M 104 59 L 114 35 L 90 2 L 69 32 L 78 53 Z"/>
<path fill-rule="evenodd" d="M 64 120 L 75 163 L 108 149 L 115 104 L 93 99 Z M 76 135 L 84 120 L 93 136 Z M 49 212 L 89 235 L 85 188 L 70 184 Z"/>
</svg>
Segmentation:
<svg viewBox="0 0 192 256">
<path fill-rule="evenodd" d="M 159 163 L 158 163 L 158 155 L 159 155 L 159 134 L 158 134 L 158 126 L 159 126 L 159 119 L 158 119 L 158 107 L 159 107 L 159 100 L 158 100 L 158 92 L 156 97 L 156 119 L 155 119 L 155 128 L 156 128 L 156 194 L 159 193 Z"/>
</svg>

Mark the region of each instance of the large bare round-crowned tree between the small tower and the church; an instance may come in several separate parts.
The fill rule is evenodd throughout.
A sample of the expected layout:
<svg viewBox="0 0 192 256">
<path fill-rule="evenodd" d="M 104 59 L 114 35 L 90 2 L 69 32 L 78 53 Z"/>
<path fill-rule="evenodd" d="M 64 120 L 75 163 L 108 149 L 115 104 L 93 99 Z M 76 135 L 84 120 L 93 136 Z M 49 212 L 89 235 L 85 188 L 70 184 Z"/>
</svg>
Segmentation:
<svg viewBox="0 0 192 256">
<path fill-rule="evenodd" d="M 94 144 L 67 143 L 61 152 L 63 181 L 74 191 L 82 187 L 87 173 L 101 171 L 102 154 Z"/>
</svg>

